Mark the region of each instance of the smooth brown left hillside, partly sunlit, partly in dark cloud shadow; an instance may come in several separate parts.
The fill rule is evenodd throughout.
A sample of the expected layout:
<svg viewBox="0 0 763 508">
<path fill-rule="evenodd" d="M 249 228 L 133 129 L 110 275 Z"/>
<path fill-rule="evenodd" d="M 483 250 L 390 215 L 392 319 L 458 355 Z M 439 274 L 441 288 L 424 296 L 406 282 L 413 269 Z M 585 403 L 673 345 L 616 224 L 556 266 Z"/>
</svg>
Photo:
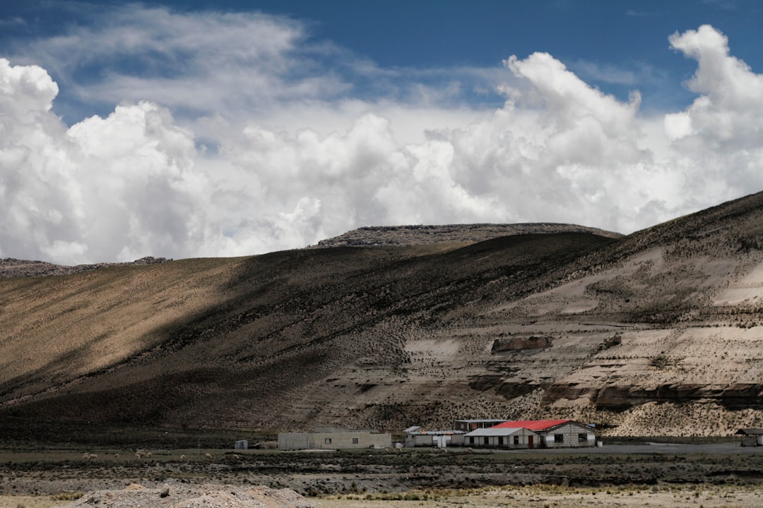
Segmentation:
<svg viewBox="0 0 763 508">
<path fill-rule="evenodd" d="M 491 283 L 514 277 L 530 287 L 544 264 L 609 241 L 520 235 L 2 280 L 2 408 L 193 425 L 309 422 L 327 402 L 312 394 L 336 372 L 404 369 L 401 332 L 439 327 L 454 309 L 493 299 Z M 349 380 L 337 400 L 346 407 L 364 384 Z"/>
</svg>

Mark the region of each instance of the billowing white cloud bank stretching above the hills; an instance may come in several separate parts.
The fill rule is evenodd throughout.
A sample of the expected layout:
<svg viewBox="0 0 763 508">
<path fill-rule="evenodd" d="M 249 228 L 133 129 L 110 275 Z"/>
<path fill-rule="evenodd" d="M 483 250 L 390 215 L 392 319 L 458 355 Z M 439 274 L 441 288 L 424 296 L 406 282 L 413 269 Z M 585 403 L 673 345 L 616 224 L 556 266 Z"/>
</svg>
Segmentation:
<svg viewBox="0 0 763 508">
<path fill-rule="evenodd" d="M 352 91 L 340 76 L 295 71 L 304 59 L 292 54 L 301 43 L 293 24 L 244 19 L 218 16 L 205 33 L 264 31 L 235 57 L 250 62 L 247 75 L 236 78 L 244 71 L 227 56 L 209 72 L 201 62 L 213 58 L 214 37 L 186 37 L 209 21 L 173 19 L 190 26 L 173 25 L 164 40 L 194 55 L 194 69 L 82 85 L 83 97 L 121 93 L 111 98 L 124 102 L 72 126 L 53 113 L 59 86 L 42 66 L 0 59 L 0 257 L 257 254 L 362 225 L 553 221 L 632 232 L 763 189 L 763 77 L 710 26 L 669 39 L 697 61 L 694 103 L 644 115 L 637 92 L 619 101 L 546 53 L 505 60 L 497 110 L 449 108 L 426 87 L 419 103 L 412 93 L 335 97 Z M 96 35 L 58 40 L 62 61 L 67 44 Z M 120 50 L 154 40 L 112 37 L 124 37 L 110 43 Z M 192 78 L 191 91 L 180 85 Z"/>
</svg>

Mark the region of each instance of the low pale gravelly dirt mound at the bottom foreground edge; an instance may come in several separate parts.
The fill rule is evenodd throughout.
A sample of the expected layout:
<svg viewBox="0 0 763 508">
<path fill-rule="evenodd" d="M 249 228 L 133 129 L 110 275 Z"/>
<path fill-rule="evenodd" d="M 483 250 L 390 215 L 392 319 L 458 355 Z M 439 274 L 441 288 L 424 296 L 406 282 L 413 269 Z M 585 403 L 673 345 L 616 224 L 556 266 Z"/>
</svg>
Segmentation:
<svg viewBox="0 0 763 508">
<path fill-rule="evenodd" d="M 146 488 L 131 484 L 124 490 L 98 490 L 80 497 L 68 506 L 102 506 L 133 508 L 134 506 L 166 506 L 168 508 L 311 508 L 313 503 L 294 490 L 273 490 L 268 487 L 234 487 L 201 485 L 194 487 L 165 485 Z"/>
</svg>

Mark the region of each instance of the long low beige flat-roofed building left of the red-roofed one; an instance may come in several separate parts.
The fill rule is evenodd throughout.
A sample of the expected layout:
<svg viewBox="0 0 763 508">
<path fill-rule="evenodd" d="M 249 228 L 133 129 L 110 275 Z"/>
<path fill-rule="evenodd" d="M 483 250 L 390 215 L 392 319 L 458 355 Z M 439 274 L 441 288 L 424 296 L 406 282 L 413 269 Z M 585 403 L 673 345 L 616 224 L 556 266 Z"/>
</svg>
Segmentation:
<svg viewBox="0 0 763 508">
<path fill-rule="evenodd" d="M 391 448 L 391 434 L 372 430 L 318 429 L 316 432 L 279 433 L 279 450 L 336 450 Z"/>
</svg>

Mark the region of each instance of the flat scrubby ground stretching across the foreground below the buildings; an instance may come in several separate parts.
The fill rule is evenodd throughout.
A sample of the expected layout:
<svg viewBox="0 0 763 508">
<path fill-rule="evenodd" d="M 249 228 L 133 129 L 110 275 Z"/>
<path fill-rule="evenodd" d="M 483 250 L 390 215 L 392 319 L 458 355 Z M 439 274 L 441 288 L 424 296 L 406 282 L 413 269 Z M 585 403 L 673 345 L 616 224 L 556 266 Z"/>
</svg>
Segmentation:
<svg viewBox="0 0 763 508">
<path fill-rule="evenodd" d="M 622 453 L 185 449 L 145 451 L 140 458 L 134 451 L 91 450 L 99 458 L 88 460 L 75 450 L 0 451 L 0 508 L 761 506 L 761 453 L 730 445 L 617 450 Z M 164 486 L 171 494 L 160 502 Z M 291 504 L 258 504 L 252 493 L 262 489 L 294 497 Z M 241 504 L 230 504 L 233 499 Z"/>
</svg>

